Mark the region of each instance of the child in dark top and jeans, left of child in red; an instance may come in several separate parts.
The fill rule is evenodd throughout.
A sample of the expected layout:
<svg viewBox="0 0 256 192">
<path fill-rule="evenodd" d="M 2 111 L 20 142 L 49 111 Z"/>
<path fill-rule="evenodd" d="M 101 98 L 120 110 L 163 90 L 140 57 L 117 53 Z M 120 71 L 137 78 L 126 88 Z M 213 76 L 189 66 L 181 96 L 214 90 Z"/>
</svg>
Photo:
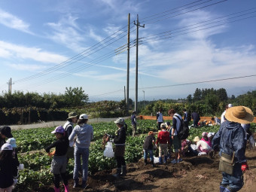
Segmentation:
<svg viewBox="0 0 256 192">
<path fill-rule="evenodd" d="M 151 165 L 154 166 L 154 156 L 153 156 L 153 149 L 154 149 L 154 143 L 156 142 L 156 139 L 154 137 L 153 131 L 150 131 L 148 133 L 147 138 L 145 139 L 144 145 L 143 145 L 143 151 L 144 151 L 144 162 L 145 165 L 148 164 L 148 153 L 149 157 L 151 159 Z"/>
</svg>

